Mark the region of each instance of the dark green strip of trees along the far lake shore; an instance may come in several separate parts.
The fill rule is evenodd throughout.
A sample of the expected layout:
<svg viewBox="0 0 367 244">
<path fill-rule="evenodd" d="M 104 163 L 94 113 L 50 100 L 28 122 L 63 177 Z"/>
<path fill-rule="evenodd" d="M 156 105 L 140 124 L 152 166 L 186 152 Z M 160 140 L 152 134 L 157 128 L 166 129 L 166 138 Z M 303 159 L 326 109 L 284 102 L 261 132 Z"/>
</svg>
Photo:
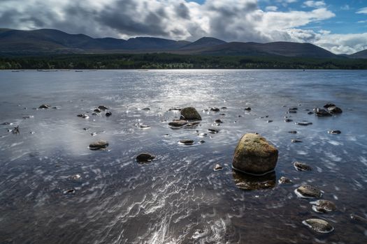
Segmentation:
<svg viewBox="0 0 367 244">
<path fill-rule="evenodd" d="M 0 57 L 0 69 L 367 69 L 367 59 L 180 54 L 64 54 Z"/>
</svg>

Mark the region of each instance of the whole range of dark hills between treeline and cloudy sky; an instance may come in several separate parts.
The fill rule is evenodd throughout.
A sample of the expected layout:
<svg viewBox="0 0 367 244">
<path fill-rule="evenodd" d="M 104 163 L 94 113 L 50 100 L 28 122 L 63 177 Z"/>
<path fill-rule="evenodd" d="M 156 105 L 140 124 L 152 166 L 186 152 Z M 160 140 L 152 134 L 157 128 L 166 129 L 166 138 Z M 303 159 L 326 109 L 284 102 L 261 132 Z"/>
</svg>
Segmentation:
<svg viewBox="0 0 367 244">
<path fill-rule="evenodd" d="M 136 37 L 92 38 L 83 34 L 69 34 L 55 29 L 20 31 L 0 29 L 0 56 L 45 54 L 102 54 L 170 52 L 216 56 L 289 56 L 312 58 L 345 58 L 310 43 L 226 43 L 217 38 L 203 37 L 190 43 L 185 40 Z M 355 56 L 364 56 L 362 51 Z"/>
</svg>

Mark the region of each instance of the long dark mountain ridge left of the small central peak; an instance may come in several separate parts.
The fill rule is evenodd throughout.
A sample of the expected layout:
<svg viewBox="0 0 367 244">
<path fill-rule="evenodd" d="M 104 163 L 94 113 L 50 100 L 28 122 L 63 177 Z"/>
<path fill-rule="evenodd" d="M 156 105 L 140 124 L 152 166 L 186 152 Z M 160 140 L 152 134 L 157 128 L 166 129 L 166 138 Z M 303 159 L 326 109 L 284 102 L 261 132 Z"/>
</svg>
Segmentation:
<svg viewBox="0 0 367 244">
<path fill-rule="evenodd" d="M 138 37 L 129 40 L 92 38 L 83 34 L 69 34 L 55 29 L 20 31 L 0 29 L 1 54 L 68 54 L 90 52 L 131 52 L 178 49 L 189 44 L 163 38 Z"/>
</svg>

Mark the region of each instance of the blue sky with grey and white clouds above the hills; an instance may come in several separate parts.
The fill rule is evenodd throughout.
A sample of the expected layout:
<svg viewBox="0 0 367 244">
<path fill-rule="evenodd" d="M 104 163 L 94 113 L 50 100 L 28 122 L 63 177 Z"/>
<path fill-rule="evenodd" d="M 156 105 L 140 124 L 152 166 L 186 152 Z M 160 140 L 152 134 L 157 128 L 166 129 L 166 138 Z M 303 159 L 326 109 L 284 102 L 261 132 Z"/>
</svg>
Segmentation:
<svg viewBox="0 0 367 244">
<path fill-rule="evenodd" d="M 0 27 L 92 37 L 312 43 L 367 49 L 367 0 L 0 0 Z"/>
</svg>

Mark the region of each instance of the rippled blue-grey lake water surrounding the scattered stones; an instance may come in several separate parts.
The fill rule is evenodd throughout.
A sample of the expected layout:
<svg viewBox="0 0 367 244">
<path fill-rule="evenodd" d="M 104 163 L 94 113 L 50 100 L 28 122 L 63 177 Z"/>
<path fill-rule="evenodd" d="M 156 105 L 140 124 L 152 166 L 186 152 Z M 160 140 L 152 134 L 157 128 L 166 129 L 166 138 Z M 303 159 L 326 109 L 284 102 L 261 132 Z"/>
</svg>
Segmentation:
<svg viewBox="0 0 367 244">
<path fill-rule="evenodd" d="M 343 114 L 308 114 L 326 102 Z M 57 109 L 35 109 L 42 104 Z M 93 116 L 99 105 L 112 116 Z M 367 243 L 367 225 L 350 218 L 367 217 L 366 105 L 366 71 L 1 71 L 0 123 L 12 124 L 0 125 L 0 243 Z M 203 121 L 169 128 L 180 114 L 168 109 L 186 106 Z M 287 114 L 291 107 L 298 112 Z M 20 134 L 8 132 L 17 125 Z M 233 151 L 247 132 L 279 150 L 273 187 L 236 185 L 246 176 L 231 169 Z M 108 151 L 88 149 L 98 139 Z M 157 158 L 139 164 L 142 152 Z M 294 161 L 313 170 L 296 171 Z M 279 184 L 281 176 L 293 184 Z M 337 211 L 313 212 L 312 200 L 294 194 L 305 183 Z M 335 230 L 317 234 L 302 224 L 309 218 Z"/>
</svg>

